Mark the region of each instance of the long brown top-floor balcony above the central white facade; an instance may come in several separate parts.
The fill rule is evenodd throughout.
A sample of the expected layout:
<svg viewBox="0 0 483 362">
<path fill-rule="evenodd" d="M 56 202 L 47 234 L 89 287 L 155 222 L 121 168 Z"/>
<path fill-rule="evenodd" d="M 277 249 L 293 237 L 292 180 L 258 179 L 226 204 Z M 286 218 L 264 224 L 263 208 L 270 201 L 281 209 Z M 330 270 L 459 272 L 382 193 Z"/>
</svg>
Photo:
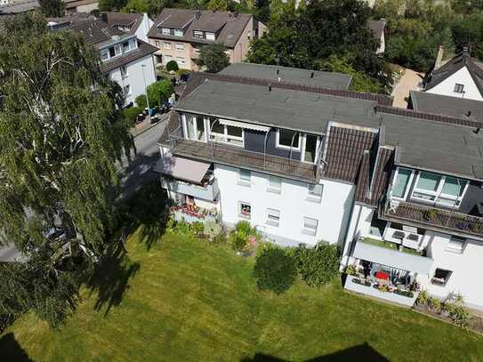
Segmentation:
<svg viewBox="0 0 483 362">
<path fill-rule="evenodd" d="M 181 137 L 170 137 L 169 146 L 173 155 L 193 157 L 222 165 L 241 166 L 247 169 L 277 174 L 297 181 L 317 182 L 317 165 L 309 165 L 285 157 L 237 149 L 216 142 L 189 141 Z"/>
</svg>

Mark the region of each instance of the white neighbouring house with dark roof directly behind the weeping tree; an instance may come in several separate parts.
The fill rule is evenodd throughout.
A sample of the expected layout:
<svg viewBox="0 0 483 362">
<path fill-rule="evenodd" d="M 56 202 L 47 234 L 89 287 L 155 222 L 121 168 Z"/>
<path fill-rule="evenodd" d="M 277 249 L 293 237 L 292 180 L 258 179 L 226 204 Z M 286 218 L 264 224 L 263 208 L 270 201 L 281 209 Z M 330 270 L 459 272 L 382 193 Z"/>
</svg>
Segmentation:
<svg viewBox="0 0 483 362">
<path fill-rule="evenodd" d="M 87 44 L 99 49 L 101 70 L 121 86 L 126 104 L 133 103 L 138 95 L 146 93 L 147 85 L 156 82 L 153 53 L 157 49 L 135 35 L 95 18 L 79 20 L 73 16 L 69 20 L 50 20 L 49 24 L 53 29 L 68 28 L 80 33 Z"/>
</svg>

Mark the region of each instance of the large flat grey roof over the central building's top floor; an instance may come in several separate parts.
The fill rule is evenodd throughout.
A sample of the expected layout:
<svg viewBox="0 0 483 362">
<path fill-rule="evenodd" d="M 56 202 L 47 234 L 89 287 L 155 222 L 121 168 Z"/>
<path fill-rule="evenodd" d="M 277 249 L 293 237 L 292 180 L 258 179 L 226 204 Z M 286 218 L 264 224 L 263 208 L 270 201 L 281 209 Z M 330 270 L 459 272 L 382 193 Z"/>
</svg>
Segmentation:
<svg viewBox="0 0 483 362">
<path fill-rule="evenodd" d="M 205 80 L 176 109 L 320 134 L 330 121 L 364 119 L 366 126 L 378 127 L 375 105 L 375 101 Z"/>
</svg>

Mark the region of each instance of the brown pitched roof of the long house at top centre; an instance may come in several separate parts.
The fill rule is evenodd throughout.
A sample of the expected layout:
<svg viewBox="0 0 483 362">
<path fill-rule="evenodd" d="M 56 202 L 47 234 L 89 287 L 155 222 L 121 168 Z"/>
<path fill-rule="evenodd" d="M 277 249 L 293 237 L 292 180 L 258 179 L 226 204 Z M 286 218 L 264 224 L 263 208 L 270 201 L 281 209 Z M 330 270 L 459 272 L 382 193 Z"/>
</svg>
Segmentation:
<svg viewBox="0 0 483 362">
<path fill-rule="evenodd" d="M 213 41 L 197 39 L 194 30 L 218 32 L 217 43 L 233 48 L 246 28 L 251 14 L 233 12 L 200 11 L 200 18 L 196 20 L 196 10 L 165 8 L 157 15 L 154 25 L 149 29 L 148 36 L 159 39 L 179 40 L 196 44 L 212 44 Z M 158 28 L 183 28 L 184 36 L 166 36 Z M 187 28 L 186 28 L 187 27 Z"/>
</svg>

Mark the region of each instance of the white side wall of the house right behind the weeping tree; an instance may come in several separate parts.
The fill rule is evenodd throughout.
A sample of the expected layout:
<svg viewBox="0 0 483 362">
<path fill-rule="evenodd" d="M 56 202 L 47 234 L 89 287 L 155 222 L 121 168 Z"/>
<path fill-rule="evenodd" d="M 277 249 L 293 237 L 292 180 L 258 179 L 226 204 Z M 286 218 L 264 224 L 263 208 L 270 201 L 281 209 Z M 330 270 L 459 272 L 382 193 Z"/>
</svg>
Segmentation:
<svg viewBox="0 0 483 362">
<path fill-rule="evenodd" d="M 142 77 L 142 65 L 144 67 L 144 76 L 146 77 L 146 85 L 156 82 L 156 71 L 154 68 L 154 62 L 152 56 L 141 58 L 140 60 L 135 60 L 127 65 L 127 77 L 125 79 L 121 76 L 120 68 L 114 69 L 109 73 L 111 79 L 115 80 L 117 84 L 124 87 L 126 84 L 131 85 L 131 94 L 128 94 L 125 98 L 126 104 L 131 101 L 134 102 L 136 97 L 140 94 L 144 94 L 145 86 L 144 79 Z"/>
</svg>

